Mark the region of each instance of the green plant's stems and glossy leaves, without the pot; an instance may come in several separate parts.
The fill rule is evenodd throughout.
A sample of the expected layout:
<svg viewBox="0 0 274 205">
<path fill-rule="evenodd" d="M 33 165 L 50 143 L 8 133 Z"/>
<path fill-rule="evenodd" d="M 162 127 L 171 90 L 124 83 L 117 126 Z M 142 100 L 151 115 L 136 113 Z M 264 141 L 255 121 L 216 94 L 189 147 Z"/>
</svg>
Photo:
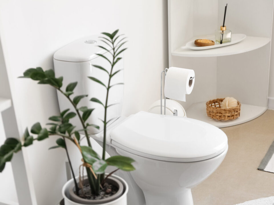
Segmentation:
<svg viewBox="0 0 274 205">
<path fill-rule="evenodd" d="M 100 190 L 103 188 L 103 183 L 106 179 L 105 176 L 105 169 L 108 166 L 114 166 L 117 167 L 116 170 L 121 169 L 123 171 L 133 171 L 134 167 L 132 166 L 132 162 L 134 162 L 133 159 L 129 157 L 124 156 L 112 156 L 108 159 L 106 159 L 106 127 L 109 121 L 107 121 L 107 109 L 109 106 L 108 104 L 108 95 L 110 92 L 111 85 L 111 79 L 114 75 L 116 75 L 120 70 L 117 70 L 113 72 L 113 68 L 116 65 L 116 63 L 121 60 L 122 58 L 119 57 L 119 54 L 124 52 L 126 48 L 123 48 L 123 45 L 126 41 L 124 41 L 125 37 L 123 38 L 122 35 L 116 35 L 118 33 L 118 30 L 114 31 L 112 34 L 110 33 L 102 33 L 104 34 L 104 37 L 101 37 L 102 42 L 104 42 L 107 46 L 107 48 L 103 46 L 99 46 L 100 48 L 106 50 L 107 52 L 111 53 L 111 59 L 108 59 L 106 56 L 102 54 L 97 54 L 101 58 L 104 58 L 104 60 L 108 61 L 110 63 L 110 68 L 103 68 L 100 65 L 93 65 L 94 67 L 104 70 L 106 73 L 108 73 L 109 80 L 108 84 L 105 85 L 100 81 L 100 79 L 96 79 L 94 77 L 89 77 L 90 80 L 95 81 L 102 86 L 106 88 L 106 102 L 101 102 L 100 100 L 96 99 L 95 97 L 92 97 L 90 101 L 96 102 L 101 104 L 104 107 L 104 140 L 103 140 L 103 152 L 102 152 L 102 158 L 99 157 L 99 155 L 92 149 L 92 145 L 90 143 L 90 137 L 88 136 L 87 129 L 89 126 L 93 126 L 97 129 L 99 127 L 94 124 L 88 124 L 86 123 L 86 120 L 90 117 L 92 114 L 93 108 L 88 108 L 87 106 L 79 107 L 78 103 L 81 101 L 81 99 L 88 97 L 88 95 L 78 95 L 72 98 L 73 90 L 77 85 L 77 82 L 72 82 L 67 85 L 65 90 L 63 89 L 63 77 L 56 77 L 55 72 L 50 69 L 44 71 L 41 67 L 37 68 L 30 68 L 27 69 L 24 73 L 22 78 L 30 78 L 34 81 L 38 81 L 38 84 L 47 84 L 52 87 L 54 87 L 58 92 L 61 92 L 67 100 L 72 104 L 74 107 L 74 110 L 63 110 L 59 115 L 57 116 L 51 116 L 49 117 L 49 120 L 51 121 L 47 125 L 49 125 L 49 128 L 42 128 L 41 124 L 39 122 L 35 123 L 30 130 L 30 133 L 28 129 L 26 128 L 24 136 L 23 136 L 23 142 L 20 142 L 16 138 L 8 138 L 5 143 L 0 147 L 0 172 L 3 171 L 5 168 L 5 163 L 11 161 L 13 154 L 17 151 L 21 150 L 22 147 L 27 147 L 31 144 L 33 144 L 33 141 L 41 141 L 49 136 L 58 136 L 59 138 L 56 140 L 56 146 L 50 147 L 49 149 L 54 148 L 63 148 L 65 149 L 67 153 L 67 158 L 69 161 L 69 165 L 72 171 L 72 176 L 74 179 L 74 186 L 76 194 L 79 196 L 79 186 L 76 182 L 75 175 L 72 169 L 72 165 L 69 158 L 69 153 L 66 145 L 66 140 L 70 140 L 73 144 L 75 144 L 82 154 L 82 160 L 84 161 L 84 166 L 86 167 L 88 182 L 90 185 L 91 193 L 96 195 L 100 193 Z M 122 84 L 122 83 L 118 83 Z M 82 128 L 80 130 L 76 130 L 76 126 L 72 125 L 70 123 L 70 119 L 74 117 L 78 117 L 80 119 Z M 87 140 L 88 146 L 81 146 L 80 145 L 80 134 L 79 132 L 83 132 L 85 135 L 85 138 Z M 35 137 L 33 136 L 35 135 Z M 115 170 L 115 171 L 116 171 Z"/>
</svg>

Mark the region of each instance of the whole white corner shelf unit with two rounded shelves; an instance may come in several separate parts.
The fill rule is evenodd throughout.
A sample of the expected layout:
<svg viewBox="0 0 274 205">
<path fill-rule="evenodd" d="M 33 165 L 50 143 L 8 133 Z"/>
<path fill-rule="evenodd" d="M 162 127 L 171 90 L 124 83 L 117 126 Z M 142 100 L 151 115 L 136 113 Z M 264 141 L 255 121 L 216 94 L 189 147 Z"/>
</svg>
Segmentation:
<svg viewBox="0 0 274 205">
<path fill-rule="evenodd" d="M 189 118 L 221 128 L 248 122 L 267 110 L 273 1 L 168 0 L 169 67 L 193 69 L 196 76 L 192 93 L 180 102 Z M 247 37 L 220 48 L 182 49 L 191 40 L 212 38 L 222 24 L 226 3 L 225 26 Z M 207 117 L 206 101 L 224 97 L 241 102 L 240 117 Z"/>
</svg>

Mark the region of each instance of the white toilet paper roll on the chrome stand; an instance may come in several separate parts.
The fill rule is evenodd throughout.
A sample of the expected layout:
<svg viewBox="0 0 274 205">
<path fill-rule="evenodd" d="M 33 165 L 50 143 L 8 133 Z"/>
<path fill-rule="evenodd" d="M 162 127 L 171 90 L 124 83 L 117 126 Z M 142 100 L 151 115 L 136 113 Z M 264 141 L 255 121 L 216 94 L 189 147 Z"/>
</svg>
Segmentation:
<svg viewBox="0 0 274 205">
<path fill-rule="evenodd" d="M 179 101 L 186 101 L 186 94 L 192 92 L 195 78 L 194 70 L 170 67 L 166 72 L 164 93 L 165 96 Z"/>
</svg>

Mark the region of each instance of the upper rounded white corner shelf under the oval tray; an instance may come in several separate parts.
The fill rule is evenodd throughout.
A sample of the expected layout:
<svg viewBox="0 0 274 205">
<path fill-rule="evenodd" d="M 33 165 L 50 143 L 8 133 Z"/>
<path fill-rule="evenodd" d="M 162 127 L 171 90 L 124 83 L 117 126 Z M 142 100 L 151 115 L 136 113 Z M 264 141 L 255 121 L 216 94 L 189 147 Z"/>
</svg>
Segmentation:
<svg viewBox="0 0 274 205">
<path fill-rule="evenodd" d="M 196 36 L 193 37 L 191 40 L 195 40 L 198 38 L 208 38 L 212 35 L 206 36 Z M 240 54 L 244 52 L 248 52 L 251 50 L 255 50 L 261 48 L 270 42 L 269 38 L 263 37 L 253 37 L 247 36 L 243 41 L 229 45 L 223 46 L 220 48 L 212 48 L 207 50 L 191 50 L 191 49 L 182 49 L 178 48 L 174 52 L 172 52 L 172 56 L 182 56 L 182 57 L 214 57 L 214 56 L 229 56 L 234 54 Z M 182 45 L 183 46 L 183 45 Z"/>
</svg>

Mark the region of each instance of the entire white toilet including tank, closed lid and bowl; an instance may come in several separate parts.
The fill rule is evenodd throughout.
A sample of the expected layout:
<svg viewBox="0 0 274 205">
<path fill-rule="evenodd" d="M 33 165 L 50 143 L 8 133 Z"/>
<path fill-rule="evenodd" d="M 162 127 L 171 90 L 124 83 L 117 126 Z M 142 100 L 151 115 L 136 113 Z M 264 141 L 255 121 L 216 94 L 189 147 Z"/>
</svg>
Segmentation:
<svg viewBox="0 0 274 205">
<path fill-rule="evenodd" d="M 86 44 L 87 40 L 95 43 Z M 98 35 L 76 40 L 55 52 L 53 62 L 55 75 L 63 76 L 64 85 L 77 81 L 75 95 L 89 95 L 78 106 L 95 108 L 86 123 L 100 126 L 99 130 L 89 127 L 88 133 L 102 145 L 104 126 L 98 118 L 103 118 L 104 108 L 89 99 L 96 97 L 105 102 L 106 90 L 88 76 L 107 83 L 108 75 L 92 65 L 107 68 L 108 62 L 96 54 L 110 54 L 98 45 Z M 191 188 L 211 175 L 223 161 L 228 149 L 227 137 L 211 124 L 187 118 L 184 109 L 172 101 L 170 114 L 174 105 L 178 115 L 184 117 L 144 111 L 122 117 L 123 85 L 120 83 L 124 82 L 123 66 L 123 60 L 120 60 L 113 72 L 121 71 L 111 79 L 119 85 L 112 88 L 108 98 L 108 104 L 114 105 L 107 113 L 107 120 L 111 120 L 107 126 L 106 152 L 110 156 L 120 154 L 135 160 L 135 171 L 115 173 L 128 183 L 128 204 L 192 205 Z M 60 110 L 74 110 L 66 97 L 59 92 L 57 95 Z M 151 112 L 159 112 L 158 104 L 150 108 Z M 70 122 L 81 129 L 78 119 L 72 118 Z M 110 173 L 111 169 L 108 167 L 106 172 Z"/>
</svg>

